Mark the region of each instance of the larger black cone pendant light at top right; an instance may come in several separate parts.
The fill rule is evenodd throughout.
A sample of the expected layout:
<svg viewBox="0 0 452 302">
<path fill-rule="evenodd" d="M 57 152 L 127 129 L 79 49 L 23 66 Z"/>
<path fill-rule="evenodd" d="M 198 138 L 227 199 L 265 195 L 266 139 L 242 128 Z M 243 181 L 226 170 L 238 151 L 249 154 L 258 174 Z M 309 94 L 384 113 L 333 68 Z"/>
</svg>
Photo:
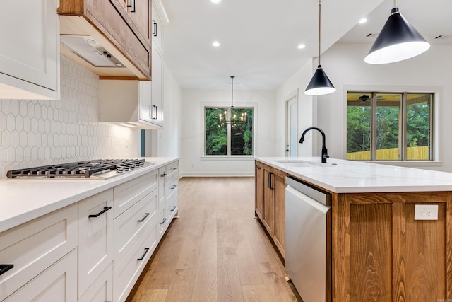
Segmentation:
<svg viewBox="0 0 452 302">
<path fill-rule="evenodd" d="M 369 64 L 386 64 L 416 57 L 429 49 L 430 44 L 402 16 L 396 7 L 383 26 L 372 45 L 364 62 Z"/>
</svg>

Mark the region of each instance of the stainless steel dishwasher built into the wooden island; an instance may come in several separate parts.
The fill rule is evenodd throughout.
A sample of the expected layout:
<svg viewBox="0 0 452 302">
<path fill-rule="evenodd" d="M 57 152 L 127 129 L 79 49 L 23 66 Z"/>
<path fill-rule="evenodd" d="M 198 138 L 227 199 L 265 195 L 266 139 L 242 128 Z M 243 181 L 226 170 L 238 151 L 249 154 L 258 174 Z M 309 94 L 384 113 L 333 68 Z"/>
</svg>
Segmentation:
<svg viewBox="0 0 452 302">
<path fill-rule="evenodd" d="M 331 302 L 331 194 L 286 183 L 285 269 L 304 302 Z"/>
</svg>

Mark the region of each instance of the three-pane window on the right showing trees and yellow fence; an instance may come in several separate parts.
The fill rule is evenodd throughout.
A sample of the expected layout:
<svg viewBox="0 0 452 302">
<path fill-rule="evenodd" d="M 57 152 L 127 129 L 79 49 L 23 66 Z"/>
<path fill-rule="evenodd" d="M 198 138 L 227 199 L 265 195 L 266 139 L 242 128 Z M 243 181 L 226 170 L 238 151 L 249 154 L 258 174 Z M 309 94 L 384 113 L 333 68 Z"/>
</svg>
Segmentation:
<svg viewBox="0 0 452 302">
<path fill-rule="evenodd" d="M 433 93 L 347 93 L 347 159 L 432 161 Z"/>
</svg>

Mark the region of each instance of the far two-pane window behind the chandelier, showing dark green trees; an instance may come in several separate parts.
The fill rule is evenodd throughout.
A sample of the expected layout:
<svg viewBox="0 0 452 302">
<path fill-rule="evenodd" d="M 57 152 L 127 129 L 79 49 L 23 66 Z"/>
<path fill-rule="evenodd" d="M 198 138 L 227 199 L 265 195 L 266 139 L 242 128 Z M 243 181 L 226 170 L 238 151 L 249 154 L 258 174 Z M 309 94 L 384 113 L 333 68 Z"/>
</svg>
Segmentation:
<svg viewBox="0 0 452 302">
<path fill-rule="evenodd" d="M 205 156 L 253 156 L 253 108 L 204 108 Z"/>
</svg>

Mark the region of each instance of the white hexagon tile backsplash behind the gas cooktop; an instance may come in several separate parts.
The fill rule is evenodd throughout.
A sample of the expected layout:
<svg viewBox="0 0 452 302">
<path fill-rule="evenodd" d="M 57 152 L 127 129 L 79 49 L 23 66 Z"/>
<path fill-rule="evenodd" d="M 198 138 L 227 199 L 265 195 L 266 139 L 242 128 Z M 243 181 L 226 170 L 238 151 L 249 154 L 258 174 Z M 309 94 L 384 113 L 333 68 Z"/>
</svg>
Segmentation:
<svg viewBox="0 0 452 302">
<path fill-rule="evenodd" d="M 0 100 L 0 178 L 38 165 L 137 158 L 139 130 L 98 122 L 97 83 L 61 55 L 61 100 Z"/>
</svg>

